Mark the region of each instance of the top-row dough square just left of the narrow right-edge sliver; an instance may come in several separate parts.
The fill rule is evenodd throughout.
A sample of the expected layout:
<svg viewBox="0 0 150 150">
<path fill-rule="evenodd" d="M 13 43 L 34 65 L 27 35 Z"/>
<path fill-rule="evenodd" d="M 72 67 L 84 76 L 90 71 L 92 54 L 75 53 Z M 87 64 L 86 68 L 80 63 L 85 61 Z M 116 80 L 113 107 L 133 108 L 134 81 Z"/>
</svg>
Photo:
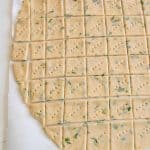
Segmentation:
<svg viewBox="0 0 150 150">
<path fill-rule="evenodd" d="M 125 15 L 142 15 L 142 5 L 140 0 L 123 0 L 122 2 Z"/>
</svg>

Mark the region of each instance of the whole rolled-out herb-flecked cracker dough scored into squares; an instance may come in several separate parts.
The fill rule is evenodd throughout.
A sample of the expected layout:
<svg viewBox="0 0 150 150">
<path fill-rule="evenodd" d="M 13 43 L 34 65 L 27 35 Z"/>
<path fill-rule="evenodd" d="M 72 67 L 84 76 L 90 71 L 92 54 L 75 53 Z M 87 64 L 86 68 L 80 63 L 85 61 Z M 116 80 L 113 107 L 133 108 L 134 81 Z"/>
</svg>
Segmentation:
<svg viewBox="0 0 150 150">
<path fill-rule="evenodd" d="M 150 0 L 24 0 L 12 69 L 62 150 L 150 150 Z"/>
</svg>

